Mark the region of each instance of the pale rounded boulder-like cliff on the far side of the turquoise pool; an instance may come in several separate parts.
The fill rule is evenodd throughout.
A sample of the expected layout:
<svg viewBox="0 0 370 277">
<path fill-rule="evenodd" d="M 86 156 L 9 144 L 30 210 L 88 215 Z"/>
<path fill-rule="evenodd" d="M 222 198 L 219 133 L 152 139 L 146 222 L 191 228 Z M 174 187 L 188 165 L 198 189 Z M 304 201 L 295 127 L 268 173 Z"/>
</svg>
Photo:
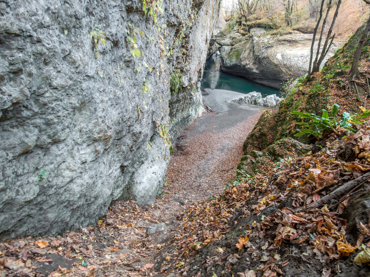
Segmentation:
<svg viewBox="0 0 370 277">
<path fill-rule="evenodd" d="M 232 39 L 220 41 L 223 71 L 277 89 L 282 88 L 287 79 L 307 74 L 312 34 L 273 36 L 261 28 L 253 28 L 249 36 L 239 40 L 237 43 Z M 339 47 L 340 44 L 334 42 L 326 59 Z"/>
</svg>

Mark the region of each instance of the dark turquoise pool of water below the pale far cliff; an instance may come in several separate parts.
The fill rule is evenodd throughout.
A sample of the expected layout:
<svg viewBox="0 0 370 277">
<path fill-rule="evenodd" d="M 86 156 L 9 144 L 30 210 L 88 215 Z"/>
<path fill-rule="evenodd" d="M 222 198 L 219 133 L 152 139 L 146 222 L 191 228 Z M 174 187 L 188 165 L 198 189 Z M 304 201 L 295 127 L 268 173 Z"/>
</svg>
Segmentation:
<svg viewBox="0 0 370 277">
<path fill-rule="evenodd" d="M 256 91 L 260 92 L 262 97 L 272 94 L 279 95 L 279 91 L 274 88 L 253 83 L 242 77 L 221 71 L 218 58 L 215 56 L 212 56 L 206 60 L 201 87 L 211 89 L 226 89 L 245 94 Z"/>
</svg>

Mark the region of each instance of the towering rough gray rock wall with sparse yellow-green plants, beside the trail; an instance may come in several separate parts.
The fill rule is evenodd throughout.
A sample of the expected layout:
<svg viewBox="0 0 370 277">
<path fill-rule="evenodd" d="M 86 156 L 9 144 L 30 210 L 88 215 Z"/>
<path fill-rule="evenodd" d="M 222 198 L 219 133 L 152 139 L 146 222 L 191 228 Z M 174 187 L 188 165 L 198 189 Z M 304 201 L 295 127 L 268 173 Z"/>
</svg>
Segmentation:
<svg viewBox="0 0 370 277">
<path fill-rule="evenodd" d="M 201 111 L 218 14 L 156 3 L 157 18 L 139 0 L 0 2 L 1 239 L 90 225 L 112 199 L 154 202 L 168 134 Z"/>
</svg>

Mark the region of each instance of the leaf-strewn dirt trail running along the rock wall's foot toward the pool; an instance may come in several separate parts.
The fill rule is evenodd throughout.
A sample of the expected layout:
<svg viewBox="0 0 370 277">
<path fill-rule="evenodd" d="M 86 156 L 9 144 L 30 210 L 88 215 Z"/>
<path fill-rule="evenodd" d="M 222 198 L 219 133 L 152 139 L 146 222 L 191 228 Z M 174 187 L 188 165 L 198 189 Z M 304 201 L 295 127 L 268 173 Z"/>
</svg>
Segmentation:
<svg viewBox="0 0 370 277">
<path fill-rule="evenodd" d="M 95 226 L 0 242 L 0 276 L 157 275 L 158 252 L 181 229 L 177 216 L 219 195 L 235 178 L 243 141 L 262 113 L 260 107 L 227 103 L 232 92 L 223 91 L 220 99 L 216 92 L 204 96 L 215 112 L 204 112 L 177 138 L 154 205 L 115 201 Z"/>
</svg>

